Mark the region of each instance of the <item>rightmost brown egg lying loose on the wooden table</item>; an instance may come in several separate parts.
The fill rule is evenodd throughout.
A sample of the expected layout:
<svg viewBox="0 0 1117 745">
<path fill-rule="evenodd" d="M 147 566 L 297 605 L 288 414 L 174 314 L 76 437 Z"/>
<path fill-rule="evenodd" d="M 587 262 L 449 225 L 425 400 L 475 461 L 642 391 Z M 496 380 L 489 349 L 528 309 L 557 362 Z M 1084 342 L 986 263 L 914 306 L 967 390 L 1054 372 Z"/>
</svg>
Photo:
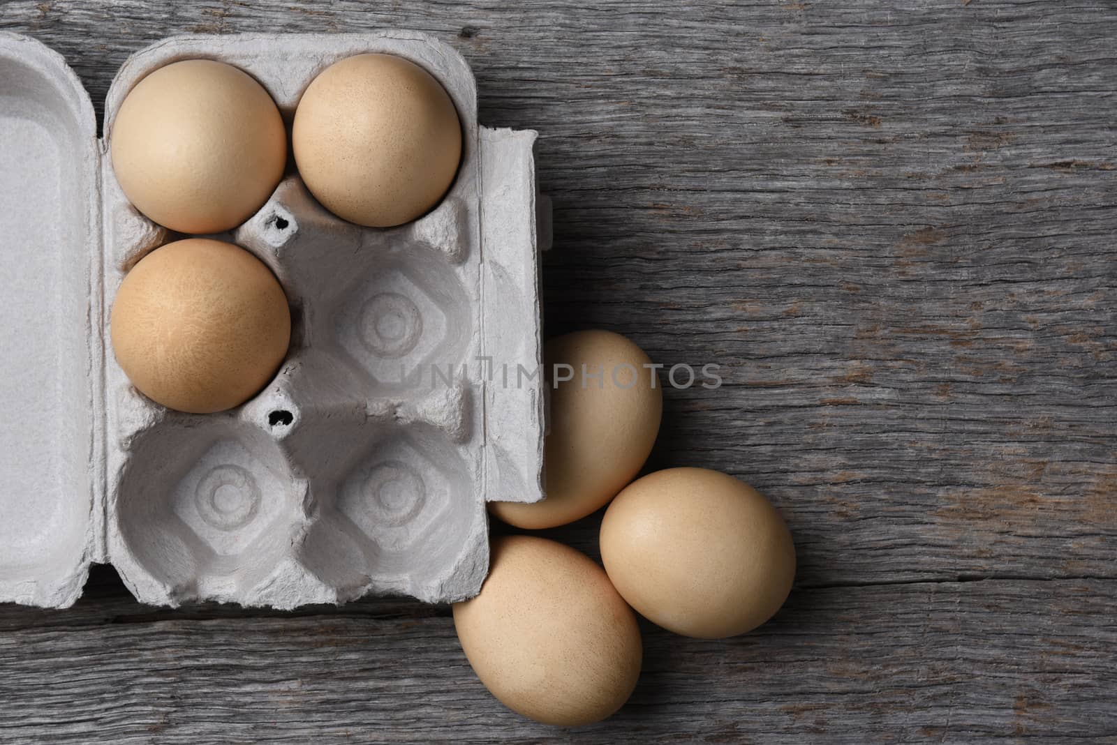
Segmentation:
<svg viewBox="0 0 1117 745">
<path fill-rule="evenodd" d="M 601 523 L 601 559 L 637 612 L 706 639 L 766 621 L 795 579 L 795 546 L 775 507 L 705 468 L 658 471 L 618 494 Z"/>
</svg>

